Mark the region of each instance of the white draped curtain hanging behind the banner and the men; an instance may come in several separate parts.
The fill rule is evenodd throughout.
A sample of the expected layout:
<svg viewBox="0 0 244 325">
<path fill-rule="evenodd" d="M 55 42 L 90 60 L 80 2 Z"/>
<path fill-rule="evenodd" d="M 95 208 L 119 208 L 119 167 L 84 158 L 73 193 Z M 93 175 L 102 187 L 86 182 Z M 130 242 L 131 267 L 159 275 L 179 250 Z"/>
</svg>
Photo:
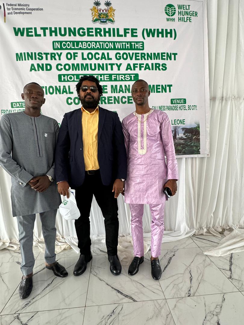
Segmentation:
<svg viewBox="0 0 244 325">
<path fill-rule="evenodd" d="M 166 203 L 165 241 L 193 233 L 244 228 L 244 1 L 209 0 L 208 45 L 210 78 L 210 157 L 179 158 L 177 195 Z M 119 234 L 130 233 L 129 206 L 118 199 Z M 150 232 L 145 206 L 143 224 Z M 57 215 L 57 243 L 75 247 L 74 222 Z M 103 236 L 103 217 L 95 201 L 91 209 L 91 234 Z M 11 215 L 10 177 L 0 168 L 0 248 L 16 247 L 16 218 Z M 41 241 L 37 218 L 34 239 Z M 12 246 L 11 246 L 12 245 Z"/>
</svg>

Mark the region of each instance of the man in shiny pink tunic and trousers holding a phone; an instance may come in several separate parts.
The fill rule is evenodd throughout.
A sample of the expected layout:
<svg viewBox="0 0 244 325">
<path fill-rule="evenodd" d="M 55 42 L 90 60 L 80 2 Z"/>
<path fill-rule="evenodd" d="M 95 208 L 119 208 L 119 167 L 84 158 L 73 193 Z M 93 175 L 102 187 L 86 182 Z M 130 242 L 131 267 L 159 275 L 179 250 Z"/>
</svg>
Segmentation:
<svg viewBox="0 0 244 325">
<path fill-rule="evenodd" d="M 166 195 L 163 189 L 168 187 L 175 195 L 178 167 L 169 118 L 160 110 L 150 109 L 148 84 L 137 80 L 132 85 L 131 94 L 136 110 L 122 121 L 128 164 L 124 194 L 130 207 L 134 247 L 128 273 L 136 274 L 144 260 L 142 216 L 143 205 L 149 204 L 152 216 L 151 274 L 157 280 L 162 274 L 158 256 L 164 233 Z"/>
</svg>

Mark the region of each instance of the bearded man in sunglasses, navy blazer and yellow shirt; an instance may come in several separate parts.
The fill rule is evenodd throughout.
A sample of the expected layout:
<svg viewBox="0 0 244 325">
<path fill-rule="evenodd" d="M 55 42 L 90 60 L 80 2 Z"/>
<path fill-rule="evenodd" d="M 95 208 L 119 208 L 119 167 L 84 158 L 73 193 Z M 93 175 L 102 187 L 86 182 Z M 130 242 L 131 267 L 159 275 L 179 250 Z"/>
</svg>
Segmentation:
<svg viewBox="0 0 244 325">
<path fill-rule="evenodd" d="M 117 256 L 118 205 L 127 176 L 127 158 L 118 114 L 98 105 L 102 86 L 94 76 L 83 76 L 76 85 L 82 107 L 65 113 L 56 146 L 55 179 L 60 194 L 75 189 L 80 217 L 75 220 L 80 257 L 74 275 L 85 272 L 90 251 L 90 209 L 93 195 L 104 217 L 110 271 L 121 273 Z"/>
</svg>

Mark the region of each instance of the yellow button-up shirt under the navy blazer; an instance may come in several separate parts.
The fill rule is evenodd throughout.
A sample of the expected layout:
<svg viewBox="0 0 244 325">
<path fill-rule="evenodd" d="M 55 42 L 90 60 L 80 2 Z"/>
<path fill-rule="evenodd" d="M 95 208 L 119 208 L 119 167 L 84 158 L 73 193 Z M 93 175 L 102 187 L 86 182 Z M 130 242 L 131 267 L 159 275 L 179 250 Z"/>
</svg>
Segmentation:
<svg viewBox="0 0 244 325">
<path fill-rule="evenodd" d="M 98 163 L 98 118 L 99 110 L 97 108 L 89 113 L 84 107 L 82 110 L 82 139 L 85 170 L 99 169 Z"/>
</svg>

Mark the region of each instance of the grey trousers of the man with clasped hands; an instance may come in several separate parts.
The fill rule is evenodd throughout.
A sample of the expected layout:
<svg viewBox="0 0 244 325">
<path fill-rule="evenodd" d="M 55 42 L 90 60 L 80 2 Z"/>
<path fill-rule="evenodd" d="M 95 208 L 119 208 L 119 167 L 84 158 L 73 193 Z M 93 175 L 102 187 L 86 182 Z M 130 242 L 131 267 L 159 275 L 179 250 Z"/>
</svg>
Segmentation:
<svg viewBox="0 0 244 325">
<path fill-rule="evenodd" d="M 46 245 L 45 261 L 48 264 L 54 263 L 56 260 L 55 254 L 55 239 L 56 239 L 56 220 L 57 209 L 40 213 L 42 223 L 42 234 Z M 32 273 L 35 264 L 33 254 L 33 230 L 35 222 L 35 214 L 17 216 L 19 227 L 19 242 L 22 257 L 21 271 L 23 275 Z"/>
</svg>

